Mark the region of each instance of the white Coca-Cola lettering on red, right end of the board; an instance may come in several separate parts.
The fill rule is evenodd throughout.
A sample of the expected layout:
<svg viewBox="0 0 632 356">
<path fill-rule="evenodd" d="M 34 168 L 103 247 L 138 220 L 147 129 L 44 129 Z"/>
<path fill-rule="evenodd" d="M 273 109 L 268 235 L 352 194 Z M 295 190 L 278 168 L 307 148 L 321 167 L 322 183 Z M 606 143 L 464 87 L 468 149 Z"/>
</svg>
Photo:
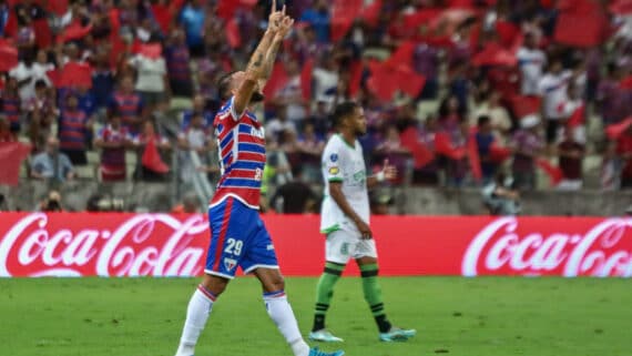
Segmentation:
<svg viewBox="0 0 632 356">
<path fill-rule="evenodd" d="M 463 255 L 462 274 L 632 276 L 632 218 L 609 218 L 583 234 L 519 231 L 516 217 L 485 226 Z"/>
</svg>

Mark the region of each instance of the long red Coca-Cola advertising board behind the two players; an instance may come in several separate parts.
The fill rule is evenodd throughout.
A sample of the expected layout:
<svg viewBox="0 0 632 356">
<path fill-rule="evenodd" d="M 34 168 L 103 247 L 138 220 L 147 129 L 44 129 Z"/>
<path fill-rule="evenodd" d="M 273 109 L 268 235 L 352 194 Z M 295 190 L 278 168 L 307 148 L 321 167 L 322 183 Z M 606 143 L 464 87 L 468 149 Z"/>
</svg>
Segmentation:
<svg viewBox="0 0 632 356">
<path fill-rule="evenodd" d="M 317 215 L 264 215 L 285 275 L 323 271 Z M 632 276 L 632 218 L 374 216 L 383 275 Z M 2 213 L 0 276 L 198 276 L 204 215 Z M 349 264 L 347 274 L 357 274 Z"/>
</svg>

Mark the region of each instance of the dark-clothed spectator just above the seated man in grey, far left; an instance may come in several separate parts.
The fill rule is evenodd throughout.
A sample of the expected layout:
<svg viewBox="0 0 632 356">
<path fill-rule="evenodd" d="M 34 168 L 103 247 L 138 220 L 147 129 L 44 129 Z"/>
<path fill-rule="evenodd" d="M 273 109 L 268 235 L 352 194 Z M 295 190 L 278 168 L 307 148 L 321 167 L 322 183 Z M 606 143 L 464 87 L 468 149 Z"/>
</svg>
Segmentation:
<svg viewBox="0 0 632 356">
<path fill-rule="evenodd" d="M 29 135 L 37 151 L 41 151 L 48 136 L 52 134 L 54 123 L 58 121 L 59 111 L 51 98 L 43 80 L 35 82 L 35 95 L 24 105 L 26 116 L 30 123 Z"/>
</svg>

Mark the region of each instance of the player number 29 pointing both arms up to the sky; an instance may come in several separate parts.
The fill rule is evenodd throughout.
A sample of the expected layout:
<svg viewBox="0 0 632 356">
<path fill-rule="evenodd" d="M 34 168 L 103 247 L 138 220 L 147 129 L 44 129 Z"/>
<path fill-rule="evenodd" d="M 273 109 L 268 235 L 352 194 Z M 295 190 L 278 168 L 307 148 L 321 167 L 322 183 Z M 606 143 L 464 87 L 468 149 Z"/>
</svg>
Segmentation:
<svg viewBox="0 0 632 356">
<path fill-rule="evenodd" d="M 285 14 L 285 7 L 276 11 L 273 0 L 267 30 L 246 70 L 220 79 L 220 93 L 226 103 L 213 125 L 221 152 L 222 177 L 208 208 L 212 235 L 205 275 L 188 303 L 176 356 L 193 355 L 213 304 L 235 276 L 237 266 L 261 281 L 266 309 L 295 356 L 344 355 L 344 352 L 329 354 L 310 349 L 303 339 L 284 293 L 274 245 L 258 212 L 265 141 L 263 125 L 248 111 L 248 105 L 263 100 L 262 89 L 293 23 Z"/>
</svg>

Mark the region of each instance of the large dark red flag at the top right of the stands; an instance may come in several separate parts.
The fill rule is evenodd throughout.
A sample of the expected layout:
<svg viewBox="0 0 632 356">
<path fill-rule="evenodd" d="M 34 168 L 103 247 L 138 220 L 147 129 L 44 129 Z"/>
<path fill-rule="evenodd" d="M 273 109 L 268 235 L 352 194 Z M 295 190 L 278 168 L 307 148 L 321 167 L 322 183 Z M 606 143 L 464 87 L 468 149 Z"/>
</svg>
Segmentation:
<svg viewBox="0 0 632 356">
<path fill-rule="evenodd" d="M 553 39 L 574 47 L 595 47 L 604 40 L 605 19 L 599 13 L 562 12 L 558 18 Z"/>
</svg>

